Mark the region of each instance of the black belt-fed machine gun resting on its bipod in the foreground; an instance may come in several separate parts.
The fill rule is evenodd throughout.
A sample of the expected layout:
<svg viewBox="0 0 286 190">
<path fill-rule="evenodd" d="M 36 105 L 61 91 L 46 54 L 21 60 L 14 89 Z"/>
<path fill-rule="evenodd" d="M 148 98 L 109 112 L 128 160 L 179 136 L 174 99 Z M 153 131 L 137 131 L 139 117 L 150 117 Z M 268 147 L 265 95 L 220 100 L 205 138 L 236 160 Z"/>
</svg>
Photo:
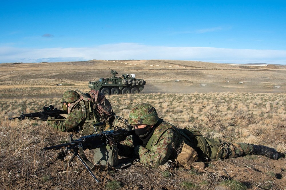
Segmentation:
<svg viewBox="0 0 286 190">
<path fill-rule="evenodd" d="M 95 126 L 104 125 L 104 123 L 94 124 Z M 78 157 L 84 167 L 89 171 L 92 177 L 95 179 L 97 183 L 99 183 L 98 179 L 96 179 L 95 175 L 92 173 L 91 169 L 93 169 L 94 165 L 90 163 L 90 161 L 86 158 L 84 154 L 84 150 L 86 149 L 96 149 L 103 147 L 105 145 L 109 145 L 110 149 L 112 149 L 112 154 L 117 158 L 118 156 L 118 148 L 117 143 L 122 140 L 125 140 L 127 136 L 135 134 L 135 130 L 126 130 L 121 127 L 115 127 L 114 130 L 110 131 L 102 131 L 99 134 L 93 134 L 88 136 L 82 136 L 77 140 L 73 140 L 72 134 L 69 135 L 69 143 L 59 144 L 55 146 L 43 147 L 43 150 L 50 149 L 61 149 L 61 147 L 65 147 L 66 151 L 72 150 L 74 155 L 69 159 L 68 165 L 72 162 L 74 157 Z"/>
</svg>

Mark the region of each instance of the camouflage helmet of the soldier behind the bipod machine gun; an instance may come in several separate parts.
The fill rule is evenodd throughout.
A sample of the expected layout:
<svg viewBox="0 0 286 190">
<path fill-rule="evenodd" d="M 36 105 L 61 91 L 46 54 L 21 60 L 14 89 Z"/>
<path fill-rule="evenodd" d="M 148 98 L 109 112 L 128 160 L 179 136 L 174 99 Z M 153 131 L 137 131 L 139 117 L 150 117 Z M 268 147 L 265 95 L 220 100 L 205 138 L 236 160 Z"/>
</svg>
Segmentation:
<svg viewBox="0 0 286 190">
<path fill-rule="evenodd" d="M 154 125 L 158 122 L 156 109 L 150 104 L 138 104 L 132 108 L 129 114 L 129 124 L 131 125 Z"/>
</svg>

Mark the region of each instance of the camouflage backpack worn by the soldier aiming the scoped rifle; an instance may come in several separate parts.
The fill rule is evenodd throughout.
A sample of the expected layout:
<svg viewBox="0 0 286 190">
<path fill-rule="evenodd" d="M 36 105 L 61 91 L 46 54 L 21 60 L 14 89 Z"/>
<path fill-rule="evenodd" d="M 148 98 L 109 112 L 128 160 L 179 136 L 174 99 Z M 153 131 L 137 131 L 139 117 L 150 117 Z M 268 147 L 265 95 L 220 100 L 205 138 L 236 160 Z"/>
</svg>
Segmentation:
<svg viewBox="0 0 286 190">
<path fill-rule="evenodd" d="M 88 93 L 82 93 L 80 98 L 69 106 L 68 112 L 72 112 L 72 109 L 78 103 L 82 105 L 82 111 L 85 118 L 89 118 L 89 114 L 94 113 L 94 120 L 96 120 L 96 114 L 101 121 L 106 121 L 111 116 L 115 115 L 110 102 L 106 99 L 104 94 L 98 90 L 90 90 Z M 94 120 L 87 120 L 86 122 L 92 122 Z"/>
</svg>

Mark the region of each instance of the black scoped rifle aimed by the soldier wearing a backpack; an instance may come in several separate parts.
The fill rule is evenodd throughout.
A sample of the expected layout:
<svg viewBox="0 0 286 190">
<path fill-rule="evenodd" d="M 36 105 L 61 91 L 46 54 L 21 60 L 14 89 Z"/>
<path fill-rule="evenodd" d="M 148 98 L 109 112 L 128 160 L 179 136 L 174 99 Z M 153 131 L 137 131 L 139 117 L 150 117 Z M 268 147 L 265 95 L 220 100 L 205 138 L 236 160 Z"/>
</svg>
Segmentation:
<svg viewBox="0 0 286 190">
<path fill-rule="evenodd" d="M 65 110 L 58 110 L 57 108 L 55 108 L 53 105 L 49 105 L 49 107 L 46 107 L 47 105 L 45 105 L 43 107 L 43 111 L 51 117 L 56 117 L 59 116 L 60 114 L 67 114 L 67 111 Z M 40 112 L 34 112 L 34 113 L 30 113 L 30 114 L 24 114 L 24 112 L 22 112 L 21 116 L 19 117 L 15 117 L 15 118 L 8 118 L 8 120 L 13 120 L 13 119 L 19 119 L 19 120 L 24 120 L 27 118 L 37 118 L 37 117 L 41 117 L 42 115 L 40 114 Z"/>
</svg>

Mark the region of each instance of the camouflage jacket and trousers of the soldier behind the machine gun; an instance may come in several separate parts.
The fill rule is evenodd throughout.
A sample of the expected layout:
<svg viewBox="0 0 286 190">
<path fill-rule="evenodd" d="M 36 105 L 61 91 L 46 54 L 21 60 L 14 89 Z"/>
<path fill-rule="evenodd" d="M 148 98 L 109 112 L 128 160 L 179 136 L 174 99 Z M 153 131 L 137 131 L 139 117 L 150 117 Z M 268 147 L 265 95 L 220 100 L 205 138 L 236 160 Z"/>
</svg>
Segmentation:
<svg viewBox="0 0 286 190">
<path fill-rule="evenodd" d="M 155 124 L 156 125 L 156 124 Z M 196 131 L 196 130 L 195 130 Z M 226 143 L 218 138 L 210 139 L 202 135 L 183 135 L 181 129 L 162 121 L 154 130 L 146 145 L 134 147 L 132 136 L 120 142 L 119 155 L 139 158 L 140 162 L 150 167 L 156 167 L 175 160 L 181 152 L 182 145 L 186 143 L 198 153 L 200 158 L 225 159 L 235 158 L 253 152 L 253 145 L 249 143 Z"/>
</svg>

